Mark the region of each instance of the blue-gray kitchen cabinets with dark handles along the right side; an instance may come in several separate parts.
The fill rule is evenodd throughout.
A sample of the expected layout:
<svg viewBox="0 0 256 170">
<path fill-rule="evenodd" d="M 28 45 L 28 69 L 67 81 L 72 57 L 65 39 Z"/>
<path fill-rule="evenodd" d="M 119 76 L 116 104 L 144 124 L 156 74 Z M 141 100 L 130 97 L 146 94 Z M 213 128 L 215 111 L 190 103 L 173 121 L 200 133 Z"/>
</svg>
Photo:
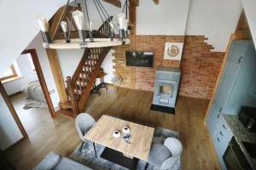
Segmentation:
<svg viewBox="0 0 256 170">
<path fill-rule="evenodd" d="M 207 127 L 222 169 L 226 169 L 223 161 L 224 150 L 233 136 L 223 113 L 237 115 L 241 105 L 256 104 L 253 97 L 247 97 L 247 91 L 254 89 L 251 87 L 253 77 L 256 77 L 255 65 L 256 53 L 253 42 L 233 41 L 207 116 Z"/>
</svg>

